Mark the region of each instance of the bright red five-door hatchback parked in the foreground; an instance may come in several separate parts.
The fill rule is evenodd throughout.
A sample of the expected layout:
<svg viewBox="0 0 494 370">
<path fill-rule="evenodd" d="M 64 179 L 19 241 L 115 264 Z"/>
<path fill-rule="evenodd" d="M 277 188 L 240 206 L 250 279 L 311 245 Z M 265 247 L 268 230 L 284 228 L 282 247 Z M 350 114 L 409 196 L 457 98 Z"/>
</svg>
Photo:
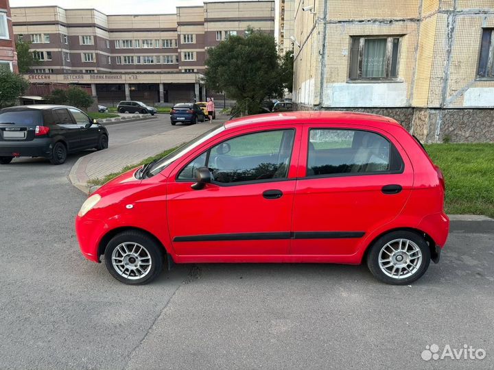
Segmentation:
<svg viewBox="0 0 494 370">
<path fill-rule="evenodd" d="M 396 121 L 290 112 L 228 121 L 83 204 L 82 253 L 126 284 L 164 262 L 360 264 L 410 284 L 438 262 L 443 175 Z"/>
</svg>

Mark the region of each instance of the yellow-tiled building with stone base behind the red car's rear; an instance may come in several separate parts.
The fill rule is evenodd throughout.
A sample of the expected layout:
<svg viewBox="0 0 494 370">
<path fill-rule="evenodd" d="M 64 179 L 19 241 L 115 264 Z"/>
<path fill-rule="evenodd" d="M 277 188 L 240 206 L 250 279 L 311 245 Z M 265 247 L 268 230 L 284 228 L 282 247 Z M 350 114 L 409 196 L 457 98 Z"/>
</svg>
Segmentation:
<svg viewBox="0 0 494 370">
<path fill-rule="evenodd" d="M 294 101 L 493 142 L 493 31 L 494 0 L 297 0 Z"/>
</svg>

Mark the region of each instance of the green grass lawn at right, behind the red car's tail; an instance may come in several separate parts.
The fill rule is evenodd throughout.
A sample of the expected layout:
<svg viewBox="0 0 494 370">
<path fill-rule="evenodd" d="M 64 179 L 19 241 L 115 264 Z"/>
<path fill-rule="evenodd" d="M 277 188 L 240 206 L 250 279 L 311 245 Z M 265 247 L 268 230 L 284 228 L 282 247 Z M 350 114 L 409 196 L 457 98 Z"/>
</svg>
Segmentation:
<svg viewBox="0 0 494 370">
<path fill-rule="evenodd" d="M 494 217 L 494 144 L 430 144 L 445 175 L 446 212 Z"/>
</svg>

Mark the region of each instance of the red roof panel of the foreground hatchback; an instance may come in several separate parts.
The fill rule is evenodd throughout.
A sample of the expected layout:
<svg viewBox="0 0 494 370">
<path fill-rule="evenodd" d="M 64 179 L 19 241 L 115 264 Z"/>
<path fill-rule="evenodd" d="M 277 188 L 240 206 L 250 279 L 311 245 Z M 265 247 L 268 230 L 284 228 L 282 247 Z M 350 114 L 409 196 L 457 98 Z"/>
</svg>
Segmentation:
<svg viewBox="0 0 494 370">
<path fill-rule="evenodd" d="M 232 121 L 226 121 L 224 125 L 225 128 L 228 129 L 242 125 L 263 125 L 266 123 L 281 124 L 286 123 L 287 121 L 293 123 L 307 123 L 308 120 L 312 122 L 324 121 L 327 123 L 362 123 L 362 121 L 366 121 L 366 124 L 372 125 L 374 122 L 376 126 L 382 126 L 383 123 L 399 125 L 394 119 L 390 119 L 386 116 L 379 116 L 378 114 L 336 110 L 307 110 L 300 112 L 257 114 L 255 116 L 246 116 L 239 119 L 233 119 Z"/>
</svg>

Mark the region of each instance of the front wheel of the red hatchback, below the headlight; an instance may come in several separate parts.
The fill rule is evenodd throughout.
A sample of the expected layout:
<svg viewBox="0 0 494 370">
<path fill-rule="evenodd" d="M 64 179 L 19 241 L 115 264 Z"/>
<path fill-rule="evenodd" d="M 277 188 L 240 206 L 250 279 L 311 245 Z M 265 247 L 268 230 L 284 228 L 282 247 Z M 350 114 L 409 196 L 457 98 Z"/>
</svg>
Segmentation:
<svg viewBox="0 0 494 370">
<path fill-rule="evenodd" d="M 124 243 L 129 243 L 131 247 L 133 247 L 134 243 L 140 245 L 142 249 L 133 249 L 130 251 L 124 247 Z M 120 249 L 115 251 L 119 247 Z M 115 251 L 115 258 L 121 258 L 121 267 L 114 266 L 112 263 L 113 252 Z M 127 251 L 127 255 L 121 253 L 121 251 Z M 139 251 L 139 254 L 132 252 Z M 108 245 L 106 245 L 104 260 L 106 264 L 106 269 L 108 272 L 115 277 L 119 282 L 123 282 L 124 284 L 129 285 L 143 285 L 148 284 L 154 280 L 160 273 L 163 271 L 163 260 L 164 260 L 165 251 L 161 245 L 156 243 L 155 240 L 150 238 L 147 234 L 142 232 L 130 230 L 126 232 L 121 232 L 114 236 Z M 137 256 L 140 258 L 140 261 L 137 258 L 132 257 Z M 149 256 L 149 258 L 146 258 Z M 133 259 L 132 259 L 133 258 Z M 116 261 L 119 261 L 118 259 Z M 150 267 L 146 269 L 148 266 L 145 263 L 150 262 Z M 128 264 L 125 264 L 128 263 Z M 143 263 L 143 264 L 141 264 Z M 130 267 L 129 267 L 130 266 Z M 138 270 L 141 269 L 143 276 L 139 277 L 140 272 L 137 273 Z M 117 271 L 119 269 L 120 273 Z M 129 274 L 129 277 L 124 277 L 121 274 Z"/>
</svg>

